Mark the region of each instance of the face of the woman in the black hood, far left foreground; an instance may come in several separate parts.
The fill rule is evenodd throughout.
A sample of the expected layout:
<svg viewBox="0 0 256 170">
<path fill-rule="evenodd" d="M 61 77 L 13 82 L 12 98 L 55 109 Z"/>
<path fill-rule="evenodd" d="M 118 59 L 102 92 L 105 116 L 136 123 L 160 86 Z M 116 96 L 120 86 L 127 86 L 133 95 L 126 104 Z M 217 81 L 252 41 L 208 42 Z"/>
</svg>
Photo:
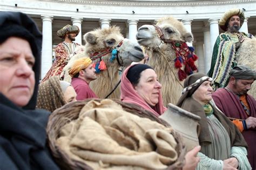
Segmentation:
<svg viewBox="0 0 256 170">
<path fill-rule="evenodd" d="M 35 58 L 29 42 L 10 37 L 0 45 L 0 93 L 23 107 L 29 103 L 35 88 L 32 70 Z"/>
</svg>

